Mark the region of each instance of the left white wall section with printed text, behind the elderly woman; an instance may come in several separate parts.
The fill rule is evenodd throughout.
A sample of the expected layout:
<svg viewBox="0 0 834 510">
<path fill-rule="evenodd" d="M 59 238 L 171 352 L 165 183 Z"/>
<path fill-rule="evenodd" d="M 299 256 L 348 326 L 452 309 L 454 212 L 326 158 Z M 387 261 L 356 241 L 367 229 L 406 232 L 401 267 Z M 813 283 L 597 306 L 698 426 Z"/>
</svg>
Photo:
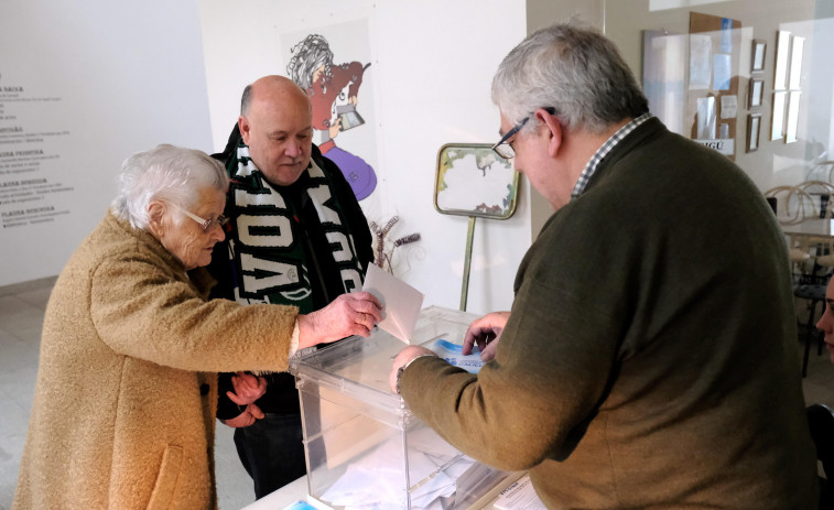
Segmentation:
<svg viewBox="0 0 834 510">
<path fill-rule="evenodd" d="M 0 89 L 59 100 L 0 99 L 0 128 L 66 131 L 14 147 L 58 156 L 29 176 L 72 189 L 47 199 L 66 214 L 0 229 L 0 285 L 61 271 L 104 216 L 131 153 L 162 142 L 210 149 L 205 84 L 196 0 L 4 0 Z M 0 183 L 13 178 L 0 175 Z M 15 207 L 0 204 L 1 211 Z"/>
</svg>

